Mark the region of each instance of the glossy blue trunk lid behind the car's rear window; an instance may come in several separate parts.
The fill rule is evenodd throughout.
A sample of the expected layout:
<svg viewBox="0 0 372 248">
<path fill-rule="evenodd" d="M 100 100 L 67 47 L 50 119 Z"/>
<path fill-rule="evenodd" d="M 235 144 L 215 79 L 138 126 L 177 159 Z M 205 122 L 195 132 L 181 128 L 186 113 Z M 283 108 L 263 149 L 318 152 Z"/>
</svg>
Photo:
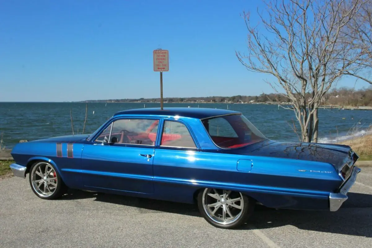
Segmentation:
<svg viewBox="0 0 372 248">
<path fill-rule="evenodd" d="M 349 160 L 357 159 L 349 146 L 338 144 L 323 143 L 304 143 L 304 142 L 280 142 L 271 140 L 257 144 L 254 149 L 244 148 L 240 150 L 241 154 L 253 156 L 266 156 L 273 158 L 288 158 L 307 161 L 325 162 L 340 168 Z"/>
</svg>

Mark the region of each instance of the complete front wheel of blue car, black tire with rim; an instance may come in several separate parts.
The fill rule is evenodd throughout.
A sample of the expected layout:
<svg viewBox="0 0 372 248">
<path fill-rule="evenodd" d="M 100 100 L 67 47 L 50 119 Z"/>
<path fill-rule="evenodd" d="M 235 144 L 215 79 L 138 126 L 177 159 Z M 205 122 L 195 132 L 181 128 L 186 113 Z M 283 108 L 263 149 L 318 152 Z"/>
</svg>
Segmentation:
<svg viewBox="0 0 372 248">
<path fill-rule="evenodd" d="M 33 193 L 42 199 L 58 198 L 67 190 L 55 167 L 44 161 L 31 166 L 29 181 Z"/>
</svg>

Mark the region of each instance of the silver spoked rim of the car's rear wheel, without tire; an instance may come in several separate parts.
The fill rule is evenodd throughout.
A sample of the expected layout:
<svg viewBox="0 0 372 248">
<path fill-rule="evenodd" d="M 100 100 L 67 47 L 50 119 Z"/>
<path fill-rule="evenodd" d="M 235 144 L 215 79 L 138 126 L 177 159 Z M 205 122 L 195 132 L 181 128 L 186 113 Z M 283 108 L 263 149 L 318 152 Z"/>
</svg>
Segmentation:
<svg viewBox="0 0 372 248">
<path fill-rule="evenodd" d="M 231 190 L 206 188 L 202 201 L 209 218 L 223 225 L 236 222 L 244 209 L 243 195 Z"/>
</svg>

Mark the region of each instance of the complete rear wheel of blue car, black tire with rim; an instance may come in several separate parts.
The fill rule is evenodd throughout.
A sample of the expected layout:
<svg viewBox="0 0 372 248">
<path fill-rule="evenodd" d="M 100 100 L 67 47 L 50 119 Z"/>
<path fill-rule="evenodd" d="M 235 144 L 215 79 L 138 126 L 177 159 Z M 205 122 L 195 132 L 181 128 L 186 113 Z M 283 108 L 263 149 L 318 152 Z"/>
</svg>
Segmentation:
<svg viewBox="0 0 372 248">
<path fill-rule="evenodd" d="M 244 224 L 254 209 L 253 199 L 231 191 L 206 188 L 198 194 L 202 216 L 213 226 L 233 229 Z"/>
</svg>

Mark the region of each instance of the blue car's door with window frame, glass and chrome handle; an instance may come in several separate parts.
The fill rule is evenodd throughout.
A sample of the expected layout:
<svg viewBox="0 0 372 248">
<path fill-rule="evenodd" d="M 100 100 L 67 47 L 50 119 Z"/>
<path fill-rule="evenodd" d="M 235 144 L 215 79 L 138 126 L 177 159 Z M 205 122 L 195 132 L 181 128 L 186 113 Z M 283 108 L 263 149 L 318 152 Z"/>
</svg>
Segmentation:
<svg viewBox="0 0 372 248">
<path fill-rule="evenodd" d="M 85 187 L 153 193 L 158 123 L 158 119 L 137 117 L 112 120 L 94 141 L 84 145 Z"/>
</svg>

